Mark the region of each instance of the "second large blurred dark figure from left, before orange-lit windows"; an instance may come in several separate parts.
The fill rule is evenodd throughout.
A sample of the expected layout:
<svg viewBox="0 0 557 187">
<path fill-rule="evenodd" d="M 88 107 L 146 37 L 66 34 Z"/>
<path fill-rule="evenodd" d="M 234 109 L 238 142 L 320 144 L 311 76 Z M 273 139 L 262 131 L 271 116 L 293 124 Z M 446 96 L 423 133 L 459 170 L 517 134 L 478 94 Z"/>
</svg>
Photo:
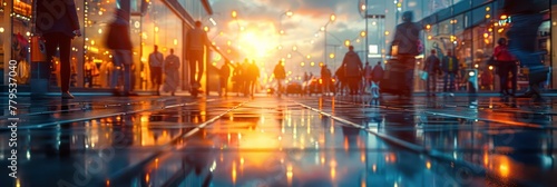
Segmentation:
<svg viewBox="0 0 557 187">
<path fill-rule="evenodd" d="M 113 50 L 113 75 L 110 76 L 110 88 L 115 96 L 137 96 L 131 92 L 131 37 L 129 36 L 129 23 L 126 20 L 127 12 L 117 9 L 115 20 L 108 26 L 109 30 L 105 43 Z M 124 79 L 123 92 L 118 90 L 118 80 Z"/>
</svg>

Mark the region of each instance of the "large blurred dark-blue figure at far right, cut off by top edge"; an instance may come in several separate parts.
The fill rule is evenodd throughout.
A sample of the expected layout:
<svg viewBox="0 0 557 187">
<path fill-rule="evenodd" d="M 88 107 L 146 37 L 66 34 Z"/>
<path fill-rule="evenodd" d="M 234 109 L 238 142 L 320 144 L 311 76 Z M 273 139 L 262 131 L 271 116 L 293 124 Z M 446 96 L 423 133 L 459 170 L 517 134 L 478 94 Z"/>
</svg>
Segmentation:
<svg viewBox="0 0 557 187">
<path fill-rule="evenodd" d="M 544 21 L 541 11 L 549 9 L 549 0 L 525 1 L 505 0 L 502 13 L 512 17 L 512 24 L 507 31 L 508 50 L 528 68 L 529 91 L 520 97 L 531 97 L 543 101 L 540 83 L 547 80 L 548 68 L 541 62 L 541 53 L 536 51 L 538 29 Z"/>
</svg>

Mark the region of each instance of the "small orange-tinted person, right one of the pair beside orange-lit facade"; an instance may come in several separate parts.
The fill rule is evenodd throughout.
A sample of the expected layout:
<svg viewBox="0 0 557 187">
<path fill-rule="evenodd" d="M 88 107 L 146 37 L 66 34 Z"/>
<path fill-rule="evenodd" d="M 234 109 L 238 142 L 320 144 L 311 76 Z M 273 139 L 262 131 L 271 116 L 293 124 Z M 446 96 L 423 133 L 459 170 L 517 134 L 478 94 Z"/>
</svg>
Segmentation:
<svg viewBox="0 0 557 187">
<path fill-rule="evenodd" d="M 165 59 L 165 85 L 163 90 L 165 92 L 170 92 L 174 96 L 179 85 L 179 57 L 174 55 L 174 49 L 170 49 L 170 55 L 166 56 Z"/>
</svg>

